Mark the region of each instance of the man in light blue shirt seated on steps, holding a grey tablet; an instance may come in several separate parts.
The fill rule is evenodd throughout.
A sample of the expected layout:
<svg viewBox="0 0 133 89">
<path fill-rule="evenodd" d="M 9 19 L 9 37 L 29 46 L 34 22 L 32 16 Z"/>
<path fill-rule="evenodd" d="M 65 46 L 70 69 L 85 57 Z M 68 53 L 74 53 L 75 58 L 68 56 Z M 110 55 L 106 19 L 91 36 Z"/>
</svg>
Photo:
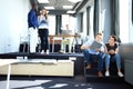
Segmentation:
<svg viewBox="0 0 133 89">
<path fill-rule="evenodd" d="M 95 43 L 94 43 L 95 42 Z M 93 46 L 94 44 L 94 46 Z M 91 69 L 91 56 L 95 56 L 99 59 L 98 63 L 98 76 L 103 77 L 103 57 L 104 57 L 104 46 L 102 42 L 102 33 L 98 33 L 94 40 L 89 40 L 81 46 L 83 50 L 84 59 L 88 63 L 86 69 Z"/>
</svg>

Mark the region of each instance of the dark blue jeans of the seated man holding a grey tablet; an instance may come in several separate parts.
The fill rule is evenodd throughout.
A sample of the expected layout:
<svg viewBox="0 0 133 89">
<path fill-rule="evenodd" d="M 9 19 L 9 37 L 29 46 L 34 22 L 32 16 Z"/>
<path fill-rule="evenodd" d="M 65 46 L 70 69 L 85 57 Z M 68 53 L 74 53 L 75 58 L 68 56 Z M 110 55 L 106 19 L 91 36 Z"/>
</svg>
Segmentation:
<svg viewBox="0 0 133 89">
<path fill-rule="evenodd" d="M 88 65 L 91 65 L 91 61 L 92 61 L 91 56 L 95 56 L 96 59 L 99 60 L 99 62 L 98 62 L 98 70 L 99 71 L 103 70 L 103 62 L 104 62 L 104 53 L 103 52 L 100 52 L 98 55 L 92 55 L 92 53 L 89 52 L 88 49 L 84 49 L 83 50 L 83 55 L 84 55 L 84 59 L 85 59 Z"/>
</svg>

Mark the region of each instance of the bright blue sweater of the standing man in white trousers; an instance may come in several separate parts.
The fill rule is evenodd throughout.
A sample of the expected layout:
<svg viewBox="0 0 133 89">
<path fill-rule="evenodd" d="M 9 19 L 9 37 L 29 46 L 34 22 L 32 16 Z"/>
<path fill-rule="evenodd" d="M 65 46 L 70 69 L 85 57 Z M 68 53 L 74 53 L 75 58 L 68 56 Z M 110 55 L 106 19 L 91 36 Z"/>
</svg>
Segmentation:
<svg viewBox="0 0 133 89">
<path fill-rule="evenodd" d="M 28 26 L 29 28 L 38 28 L 38 17 L 35 14 L 35 11 L 34 10 L 31 10 L 29 13 L 28 13 Z"/>
</svg>

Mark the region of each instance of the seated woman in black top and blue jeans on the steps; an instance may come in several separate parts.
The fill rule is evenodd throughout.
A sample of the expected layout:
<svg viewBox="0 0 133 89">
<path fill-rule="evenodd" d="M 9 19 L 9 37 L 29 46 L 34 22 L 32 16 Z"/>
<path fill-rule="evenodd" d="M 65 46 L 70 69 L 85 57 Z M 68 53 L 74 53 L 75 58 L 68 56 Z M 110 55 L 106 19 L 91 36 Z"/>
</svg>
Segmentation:
<svg viewBox="0 0 133 89">
<path fill-rule="evenodd" d="M 109 39 L 109 43 L 105 43 L 105 76 L 110 76 L 110 61 L 115 60 L 116 61 L 116 67 L 117 67 L 117 76 L 123 77 L 123 73 L 121 72 L 121 57 L 119 55 L 119 46 L 116 43 L 116 37 L 111 36 Z"/>
</svg>

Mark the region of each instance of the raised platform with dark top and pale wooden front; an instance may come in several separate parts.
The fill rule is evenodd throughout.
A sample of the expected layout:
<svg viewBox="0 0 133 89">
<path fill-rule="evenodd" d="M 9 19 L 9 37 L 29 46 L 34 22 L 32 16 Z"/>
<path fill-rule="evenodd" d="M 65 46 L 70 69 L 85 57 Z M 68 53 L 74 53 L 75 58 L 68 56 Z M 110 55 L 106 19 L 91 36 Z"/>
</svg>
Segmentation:
<svg viewBox="0 0 133 89">
<path fill-rule="evenodd" d="M 83 73 L 82 53 L 1 53 L 1 59 L 20 59 L 12 65 L 11 75 L 20 76 L 63 76 L 73 77 Z M 54 62 L 53 62 L 54 61 Z M 7 66 L 1 68 L 0 75 L 6 75 Z"/>
</svg>

